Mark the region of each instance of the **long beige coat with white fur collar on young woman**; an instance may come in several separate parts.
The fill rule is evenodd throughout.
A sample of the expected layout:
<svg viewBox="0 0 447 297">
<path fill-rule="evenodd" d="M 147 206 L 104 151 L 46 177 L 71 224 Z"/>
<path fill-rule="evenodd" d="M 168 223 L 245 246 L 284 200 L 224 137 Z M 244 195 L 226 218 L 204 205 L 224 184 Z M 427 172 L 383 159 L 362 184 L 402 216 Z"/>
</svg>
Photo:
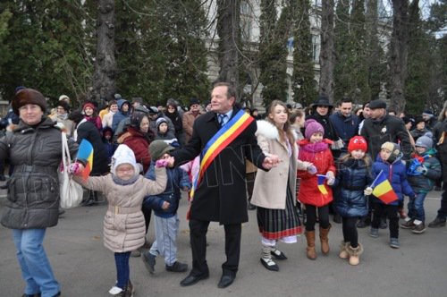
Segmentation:
<svg viewBox="0 0 447 297">
<path fill-rule="evenodd" d="M 272 123 L 257 121 L 256 135 L 257 144 L 262 151 L 278 156 L 281 162 L 268 172 L 257 171 L 251 204 L 261 208 L 285 209 L 287 181 L 295 196 L 297 169 L 305 170 L 306 166 L 298 160 L 296 141 L 291 143 L 292 154 L 289 157 L 287 145 L 280 141 L 279 132 Z M 293 202 L 296 203 L 296 199 Z"/>
</svg>

